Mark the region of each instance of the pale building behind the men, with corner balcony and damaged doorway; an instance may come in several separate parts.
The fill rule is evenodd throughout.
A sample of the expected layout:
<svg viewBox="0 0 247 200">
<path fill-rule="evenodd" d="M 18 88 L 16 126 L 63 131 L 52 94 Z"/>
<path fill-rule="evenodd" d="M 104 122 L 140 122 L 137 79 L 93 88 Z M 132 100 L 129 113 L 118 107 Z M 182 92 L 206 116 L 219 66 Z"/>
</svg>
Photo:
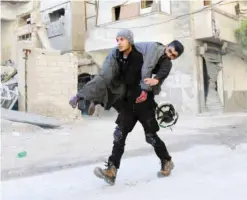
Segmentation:
<svg viewBox="0 0 247 200">
<path fill-rule="evenodd" d="M 243 8 L 230 0 L 99 1 L 85 50 L 103 61 L 121 28 L 131 29 L 135 42 L 178 39 L 185 53 L 173 62 L 157 100 L 184 113 L 244 111 L 247 61 L 235 38 L 237 7 Z"/>
</svg>

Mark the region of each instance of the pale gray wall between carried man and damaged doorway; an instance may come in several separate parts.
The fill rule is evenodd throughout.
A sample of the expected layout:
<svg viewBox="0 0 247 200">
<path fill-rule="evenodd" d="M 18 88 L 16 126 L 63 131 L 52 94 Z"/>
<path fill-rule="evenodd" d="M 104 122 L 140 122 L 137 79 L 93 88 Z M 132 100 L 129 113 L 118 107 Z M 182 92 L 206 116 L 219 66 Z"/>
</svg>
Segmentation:
<svg viewBox="0 0 247 200">
<path fill-rule="evenodd" d="M 172 103 L 180 113 L 198 112 L 197 76 L 194 63 L 194 47 L 191 38 L 180 40 L 185 46 L 184 54 L 173 62 L 170 75 L 165 80 L 157 102 Z"/>
</svg>

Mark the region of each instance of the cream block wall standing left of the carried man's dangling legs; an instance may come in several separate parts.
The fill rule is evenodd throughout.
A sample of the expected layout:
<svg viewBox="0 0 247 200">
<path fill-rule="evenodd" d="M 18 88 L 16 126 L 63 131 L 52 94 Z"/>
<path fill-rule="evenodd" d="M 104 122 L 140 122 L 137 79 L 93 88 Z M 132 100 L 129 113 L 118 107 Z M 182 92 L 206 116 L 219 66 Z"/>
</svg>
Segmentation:
<svg viewBox="0 0 247 200">
<path fill-rule="evenodd" d="M 77 92 L 77 58 L 31 49 L 27 61 L 28 112 L 62 119 L 76 116 L 68 104 Z"/>
</svg>

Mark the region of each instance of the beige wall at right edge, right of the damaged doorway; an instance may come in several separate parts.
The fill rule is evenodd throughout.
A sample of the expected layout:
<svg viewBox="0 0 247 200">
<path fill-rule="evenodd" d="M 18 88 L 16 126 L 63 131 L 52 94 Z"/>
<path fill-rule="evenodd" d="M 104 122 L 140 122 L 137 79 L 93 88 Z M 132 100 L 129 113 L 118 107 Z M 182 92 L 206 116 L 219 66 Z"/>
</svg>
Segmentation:
<svg viewBox="0 0 247 200">
<path fill-rule="evenodd" d="M 247 61 L 233 54 L 223 56 L 225 111 L 247 110 Z"/>
</svg>

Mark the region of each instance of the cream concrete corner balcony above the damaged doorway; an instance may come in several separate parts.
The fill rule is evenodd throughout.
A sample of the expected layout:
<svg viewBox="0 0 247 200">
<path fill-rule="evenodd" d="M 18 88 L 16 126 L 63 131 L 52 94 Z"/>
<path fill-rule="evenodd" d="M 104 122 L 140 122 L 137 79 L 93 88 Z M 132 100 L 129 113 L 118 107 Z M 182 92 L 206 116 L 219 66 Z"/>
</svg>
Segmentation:
<svg viewBox="0 0 247 200">
<path fill-rule="evenodd" d="M 195 39 L 237 43 L 235 30 L 238 28 L 238 18 L 220 9 L 208 9 L 195 14 L 194 25 Z"/>
</svg>

